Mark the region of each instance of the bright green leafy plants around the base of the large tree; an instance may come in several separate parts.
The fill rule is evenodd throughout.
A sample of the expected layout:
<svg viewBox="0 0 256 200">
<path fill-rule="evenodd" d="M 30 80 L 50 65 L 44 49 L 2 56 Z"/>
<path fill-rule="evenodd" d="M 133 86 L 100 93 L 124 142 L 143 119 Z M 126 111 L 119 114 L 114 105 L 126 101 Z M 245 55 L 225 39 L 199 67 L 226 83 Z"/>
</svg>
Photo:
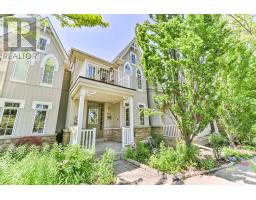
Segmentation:
<svg viewBox="0 0 256 200">
<path fill-rule="evenodd" d="M 199 150 L 195 146 L 187 147 L 185 143 L 177 144 L 176 150 L 161 145 L 159 152 L 149 159 L 149 165 L 162 172 L 176 174 L 198 164 Z"/>
</svg>

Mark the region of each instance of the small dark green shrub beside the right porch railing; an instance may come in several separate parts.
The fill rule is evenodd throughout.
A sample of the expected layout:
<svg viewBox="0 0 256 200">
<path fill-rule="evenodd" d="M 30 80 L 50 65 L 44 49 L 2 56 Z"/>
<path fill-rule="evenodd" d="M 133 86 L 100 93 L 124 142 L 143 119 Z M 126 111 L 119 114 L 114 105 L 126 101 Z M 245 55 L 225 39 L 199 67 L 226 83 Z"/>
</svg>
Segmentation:
<svg viewBox="0 0 256 200">
<path fill-rule="evenodd" d="M 151 151 L 148 144 L 140 142 L 135 148 L 128 147 L 125 151 L 124 157 L 141 163 L 146 163 L 150 155 Z"/>
</svg>

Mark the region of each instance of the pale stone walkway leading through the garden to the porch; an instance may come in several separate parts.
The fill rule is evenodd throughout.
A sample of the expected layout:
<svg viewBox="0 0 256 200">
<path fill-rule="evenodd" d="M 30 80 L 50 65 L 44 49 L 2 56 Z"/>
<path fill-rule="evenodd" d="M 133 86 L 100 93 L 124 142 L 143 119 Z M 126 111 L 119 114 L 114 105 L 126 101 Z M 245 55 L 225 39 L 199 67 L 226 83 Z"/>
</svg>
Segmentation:
<svg viewBox="0 0 256 200">
<path fill-rule="evenodd" d="M 170 184 L 158 173 L 145 170 L 124 160 L 115 164 L 117 184 L 120 185 L 163 185 Z"/>
</svg>

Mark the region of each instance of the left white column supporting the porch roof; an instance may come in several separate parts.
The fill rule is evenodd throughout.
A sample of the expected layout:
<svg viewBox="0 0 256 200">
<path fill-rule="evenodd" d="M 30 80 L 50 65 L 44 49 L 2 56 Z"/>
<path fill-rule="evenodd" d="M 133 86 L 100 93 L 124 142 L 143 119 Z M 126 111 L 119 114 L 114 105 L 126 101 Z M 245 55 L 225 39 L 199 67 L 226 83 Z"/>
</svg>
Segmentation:
<svg viewBox="0 0 256 200">
<path fill-rule="evenodd" d="M 80 90 L 79 97 L 79 107 L 78 107 L 78 116 L 77 116 L 77 144 L 81 144 L 81 134 L 83 128 L 83 118 L 84 118 L 84 99 L 86 95 L 86 90 Z"/>
</svg>

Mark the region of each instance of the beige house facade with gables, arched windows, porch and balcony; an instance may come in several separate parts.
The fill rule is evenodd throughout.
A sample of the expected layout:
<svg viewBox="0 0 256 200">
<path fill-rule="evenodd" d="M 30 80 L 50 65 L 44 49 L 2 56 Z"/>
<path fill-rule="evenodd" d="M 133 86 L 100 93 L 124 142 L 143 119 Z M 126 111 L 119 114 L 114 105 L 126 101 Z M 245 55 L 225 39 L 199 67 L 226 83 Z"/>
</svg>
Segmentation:
<svg viewBox="0 0 256 200">
<path fill-rule="evenodd" d="M 60 132 L 70 133 L 71 144 L 96 149 L 125 147 L 150 131 L 179 135 L 171 113 L 143 112 L 156 105 L 135 40 L 112 61 L 75 48 L 67 56 L 49 21 L 39 30 L 37 52 L 35 61 L 0 61 L 0 145 L 25 136 L 53 142 Z"/>
</svg>

